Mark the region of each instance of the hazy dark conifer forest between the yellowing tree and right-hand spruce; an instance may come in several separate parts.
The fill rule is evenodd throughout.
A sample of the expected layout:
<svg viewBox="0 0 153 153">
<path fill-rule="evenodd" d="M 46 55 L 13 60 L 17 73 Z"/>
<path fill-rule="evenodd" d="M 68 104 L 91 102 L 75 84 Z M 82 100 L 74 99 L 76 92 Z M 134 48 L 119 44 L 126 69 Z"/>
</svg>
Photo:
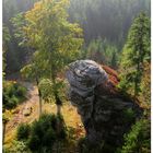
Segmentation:
<svg viewBox="0 0 153 153">
<path fill-rule="evenodd" d="M 122 47 L 132 19 L 141 11 L 150 15 L 151 0 L 71 0 L 70 20 L 80 23 L 85 42 L 102 36 Z"/>
</svg>

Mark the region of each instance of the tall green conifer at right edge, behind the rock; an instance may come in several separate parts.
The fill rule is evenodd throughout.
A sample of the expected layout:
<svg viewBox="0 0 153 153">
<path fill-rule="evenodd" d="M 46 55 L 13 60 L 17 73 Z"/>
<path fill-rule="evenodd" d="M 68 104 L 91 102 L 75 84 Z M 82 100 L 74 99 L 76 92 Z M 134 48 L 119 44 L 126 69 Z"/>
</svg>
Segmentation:
<svg viewBox="0 0 153 153">
<path fill-rule="evenodd" d="M 142 12 L 131 25 L 122 52 L 123 78 L 133 86 L 134 96 L 140 93 L 144 62 L 150 62 L 151 59 L 150 31 L 150 19 Z"/>
</svg>

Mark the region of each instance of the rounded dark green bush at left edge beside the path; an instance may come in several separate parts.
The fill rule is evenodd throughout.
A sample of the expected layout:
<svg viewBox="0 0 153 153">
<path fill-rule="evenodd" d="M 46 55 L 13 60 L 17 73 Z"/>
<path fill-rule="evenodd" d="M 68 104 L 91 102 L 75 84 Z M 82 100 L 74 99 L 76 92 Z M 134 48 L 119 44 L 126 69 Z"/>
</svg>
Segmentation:
<svg viewBox="0 0 153 153">
<path fill-rule="evenodd" d="M 26 89 L 16 82 L 3 82 L 3 108 L 11 109 L 25 99 Z"/>
</svg>

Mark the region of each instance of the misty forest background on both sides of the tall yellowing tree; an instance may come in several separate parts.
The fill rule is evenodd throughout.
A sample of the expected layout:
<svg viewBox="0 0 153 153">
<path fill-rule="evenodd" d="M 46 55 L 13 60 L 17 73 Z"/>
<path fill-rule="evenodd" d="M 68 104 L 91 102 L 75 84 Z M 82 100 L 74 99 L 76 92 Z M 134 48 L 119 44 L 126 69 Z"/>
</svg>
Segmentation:
<svg viewBox="0 0 153 153">
<path fill-rule="evenodd" d="M 17 27 L 22 25 L 21 13 L 30 10 L 37 0 L 3 0 L 3 27 L 8 28 L 10 40 L 7 51 L 7 72 L 17 72 L 28 60 L 31 51 L 20 44 Z M 144 11 L 150 16 L 150 0 L 71 0 L 69 21 L 76 22 L 83 28 L 84 47 L 82 55 L 93 57 L 94 46 L 99 44 L 99 52 L 105 56 L 97 59 L 111 64 L 113 55 L 119 60 L 132 20 Z M 20 13 L 20 14 L 19 14 Z M 17 16 L 13 22 L 13 17 Z M 105 47 L 106 46 L 106 47 Z M 111 51 L 109 51 L 111 49 Z M 98 50 L 98 48 L 96 48 Z M 91 56 L 92 55 L 92 56 Z M 98 57 L 94 57 L 98 58 Z M 13 63 L 13 64 L 12 64 Z M 117 63 L 115 63 L 116 67 Z"/>
</svg>

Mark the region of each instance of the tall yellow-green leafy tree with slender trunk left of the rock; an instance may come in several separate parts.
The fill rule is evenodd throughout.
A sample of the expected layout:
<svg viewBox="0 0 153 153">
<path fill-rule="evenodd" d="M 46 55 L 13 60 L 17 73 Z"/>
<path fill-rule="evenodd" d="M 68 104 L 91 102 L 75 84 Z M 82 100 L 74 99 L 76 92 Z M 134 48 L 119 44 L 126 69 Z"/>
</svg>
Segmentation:
<svg viewBox="0 0 153 153">
<path fill-rule="evenodd" d="M 35 3 L 34 8 L 25 14 L 27 24 L 24 26 L 27 45 L 37 50 L 38 55 L 47 56 L 47 60 L 42 57 L 38 59 L 38 64 L 33 64 L 33 69 L 42 72 L 32 71 L 32 73 L 44 75 L 44 70 L 49 72 L 48 78 L 52 82 L 58 114 L 60 114 L 61 99 L 56 87 L 56 79 L 64 66 L 78 57 L 83 43 L 82 30 L 78 24 L 68 21 L 68 4 L 69 0 L 44 0 Z M 34 58 L 35 60 L 37 59 Z M 43 61 L 47 61 L 48 67 L 38 69 Z"/>
</svg>

